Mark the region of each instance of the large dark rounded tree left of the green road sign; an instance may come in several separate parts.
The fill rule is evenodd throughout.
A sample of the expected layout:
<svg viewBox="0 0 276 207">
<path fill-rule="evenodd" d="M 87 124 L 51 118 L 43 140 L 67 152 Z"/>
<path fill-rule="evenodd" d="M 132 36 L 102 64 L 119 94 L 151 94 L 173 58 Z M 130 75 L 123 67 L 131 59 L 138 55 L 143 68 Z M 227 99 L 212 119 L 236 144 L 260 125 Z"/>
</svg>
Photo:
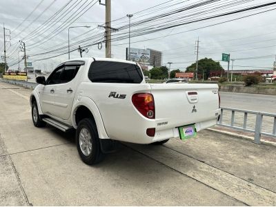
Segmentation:
<svg viewBox="0 0 276 207">
<path fill-rule="evenodd" d="M 196 68 L 196 63 L 193 63 L 192 65 L 190 65 L 186 68 L 186 72 L 195 72 L 195 68 Z M 204 79 L 206 79 L 206 77 L 209 77 L 210 72 L 214 71 L 214 70 L 223 71 L 224 68 L 221 67 L 219 62 L 216 62 L 211 58 L 204 58 L 204 59 L 200 59 L 198 61 L 197 74 L 203 75 L 203 73 L 204 73 L 204 77 L 205 77 Z"/>
</svg>

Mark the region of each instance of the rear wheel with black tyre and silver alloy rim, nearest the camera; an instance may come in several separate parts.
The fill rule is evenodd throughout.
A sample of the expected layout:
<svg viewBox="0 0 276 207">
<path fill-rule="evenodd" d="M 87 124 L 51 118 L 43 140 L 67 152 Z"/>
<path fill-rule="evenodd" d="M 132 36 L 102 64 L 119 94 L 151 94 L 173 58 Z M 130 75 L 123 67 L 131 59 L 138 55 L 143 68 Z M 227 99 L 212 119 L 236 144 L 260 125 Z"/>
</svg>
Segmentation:
<svg viewBox="0 0 276 207">
<path fill-rule="evenodd" d="M 76 131 L 76 144 L 79 156 L 88 165 L 97 164 L 103 160 L 97 126 L 92 119 L 79 121 Z"/>
</svg>

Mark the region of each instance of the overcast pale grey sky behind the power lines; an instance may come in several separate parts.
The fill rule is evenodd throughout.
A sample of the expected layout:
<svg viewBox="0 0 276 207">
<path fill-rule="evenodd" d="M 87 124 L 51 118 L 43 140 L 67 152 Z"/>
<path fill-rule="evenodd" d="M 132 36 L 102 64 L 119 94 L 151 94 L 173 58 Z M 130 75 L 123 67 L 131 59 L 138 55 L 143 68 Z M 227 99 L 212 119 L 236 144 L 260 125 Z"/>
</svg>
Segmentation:
<svg viewBox="0 0 276 207">
<path fill-rule="evenodd" d="M 235 0 L 237 2 L 237 0 Z M 229 11 L 223 6 L 232 0 L 221 0 L 216 3 L 221 5 L 221 10 L 214 11 L 217 14 L 222 10 Z M 260 3 L 269 3 L 274 1 L 268 0 L 246 0 L 240 6 L 232 9 L 245 8 L 247 6 L 255 6 Z M 244 2 L 246 2 L 244 1 Z M 79 19 L 72 19 L 74 22 L 64 23 L 65 19 L 60 21 L 51 21 L 48 26 L 43 27 L 43 23 L 53 17 L 53 14 L 60 10 L 69 0 L 0 0 L 0 51 L 3 55 L 3 24 L 6 28 L 6 51 L 8 65 L 14 65 L 11 68 L 18 68 L 18 59 L 23 56 L 23 52 L 17 49 L 19 40 L 23 39 L 26 43 L 26 55 L 28 61 L 32 62 L 35 69 L 50 71 L 59 63 L 68 59 L 68 28 L 72 26 L 90 26 L 90 28 L 70 28 L 70 44 L 82 39 L 94 38 L 91 41 L 86 41 L 80 46 L 88 45 L 89 43 L 97 43 L 103 40 L 104 30 L 97 28 L 105 22 L 105 6 L 99 5 L 96 0 L 71 0 L 70 3 L 83 3 L 83 8 L 87 11 L 79 17 Z M 104 3 L 104 0 L 101 1 Z M 156 19 L 148 23 L 141 24 L 135 27 L 135 23 L 143 21 L 144 19 L 151 19 L 158 14 L 166 14 L 181 7 L 201 3 L 199 0 L 111 0 L 111 27 L 120 28 L 118 32 L 112 32 L 114 37 L 120 34 L 126 34 L 128 37 L 128 17 L 126 14 L 133 14 L 130 19 L 132 31 L 143 30 L 146 28 L 155 28 L 160 26 L 169 26 L 172 21 L 164 23 L 165 20 L 170 20 L 170 17 L 164 19 Z M 89 4 L 90 3 L 90 4 Z M 92 4 L 95 3 L 94 6 Z M 164 3 L 164 4 L 162 4 Z M 162 4 L 160 6 L 160 4 Z M 215 5 L 215 4 L 214 4 Z M 89 6 L 92 6 L 89 8 Z M 37 8 L 36 8 L 37 7 Z M 36 9 L 35 9 L 36 8 Z M 149 8 L 149 9 L 148 9 Z M 276 6 L 270 6 L 266 9 L 275 9 Z M 35 9 L 35 10 L 34 10 Z M 146 10 L 148 9 L 148 10 Z M 144 11 L 143 11 L 144 10 Z M 208 8 L 202 7 L 201 14 L 204 15 Z M 32 12 L 33 11 L 33 12 Z M 83 10 L 84 11 L 84 10 Z M 195 41 L 199 39 L 199 59 L 212 58 L 215 61 L 221 60 L 221 53 L 230 53 L 230 59 L 233 61 L 233 70 L 250 70 L 250 69 L 270 69 L 273 67 L 276 55 L 276 10 L 264 12 L 251 17 L 229 21 L 238 17 L 261 12 L 262 10 L 253 10 L 234 14 L 217 19 L 208 19 L 195 23 L 186 24 L 160 30 L 150 34 L 145 34 L 139 37 L 131 37 L 131 48 L 151 48 L 163 52 L 162 65 L 168 66 L 168 62 L 172 62 L 171 70 L 179 68 L 186 70 L 187 66 L 196 61 L 195 55 Z M 77 15 L 77 10 L 67 10 L 68 17 L 70 15 Z M 194 10 L 187 10 L 175 16 L 184 17 L 186 14 L 192 14 Z M 193 18 L 201 17 L 201 14 L 195 15 Z M 178 16 L 177 16 L 178 15 Z M 180 15 L 180 16 L 179 16 Z M 28 17 L 26 19 L 26 17 Z M 78 17 L 78 16 L 76 16 Z M 187 17 L 188 18 L 188 17 Z M 26 19 L 26 21 L 24 21 Z M 221 23 L 223 21 L 229 21 Z M 62 23 L 64 25 L 62 26 Z M 217 24 L 215 26 L 210 26 Z M 47 35 L 57 30 L 61 26 L 59 34 L 47 39 Z M 209 27 L 207 27 L 209 26 Z M 130 30 L 131 30 L 130 28 Z M 44 38 L 44 41 L 43 41 Z M 46 39 L 45 39 L 46 38 Z M 77 38 L 77 39 L 76 39 Z M 47 40 L 47 41 L 46 41 Z M 58 46 L 63 46 L 63 49 L 56 50 Z M 76 49 L 78 45 L 72 45 L 71 49 Z M 128 38 L 112 42 L 112 57 L 117 59 L 126 59 L 126 47 L 128 47 Z M 101 50 L 98 49 L 97 44 L 89 46 L 88 53 L 83 52 L 83 57 L 105 57 L 105 46 Z M 38 55 L 48 50 L 53 50 L 48 55 Z M 61 53 L 66 53 L 59 57 L 39 60 L 46 57 L 55 56 Z M 77 50 L 70 52 L 70 58 L 79 57 Z M 246 59 L 245 59 L 246 58 Z M 221 66 L 227 70 L 227 62 L 220 61 Z M 23 61 L 20 63 L 23 68 Z M 232 61 L 230 62 L 230 68 Z"/>
</svg>

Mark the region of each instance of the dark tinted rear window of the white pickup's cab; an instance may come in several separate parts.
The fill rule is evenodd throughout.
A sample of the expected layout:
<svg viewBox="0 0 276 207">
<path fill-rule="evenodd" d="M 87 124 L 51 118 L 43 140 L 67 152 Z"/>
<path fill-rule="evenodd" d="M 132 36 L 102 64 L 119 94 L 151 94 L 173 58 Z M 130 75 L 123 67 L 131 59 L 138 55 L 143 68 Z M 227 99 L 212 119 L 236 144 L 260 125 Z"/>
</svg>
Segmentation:
<svg viewBox="0 0 276 207">
<path fill-rule="evenodd" d="M 91 63 L 88 78 L 98 83 L 141 83 L 143 75 L 135 64 L 95 61 Z"/>
</svg>

